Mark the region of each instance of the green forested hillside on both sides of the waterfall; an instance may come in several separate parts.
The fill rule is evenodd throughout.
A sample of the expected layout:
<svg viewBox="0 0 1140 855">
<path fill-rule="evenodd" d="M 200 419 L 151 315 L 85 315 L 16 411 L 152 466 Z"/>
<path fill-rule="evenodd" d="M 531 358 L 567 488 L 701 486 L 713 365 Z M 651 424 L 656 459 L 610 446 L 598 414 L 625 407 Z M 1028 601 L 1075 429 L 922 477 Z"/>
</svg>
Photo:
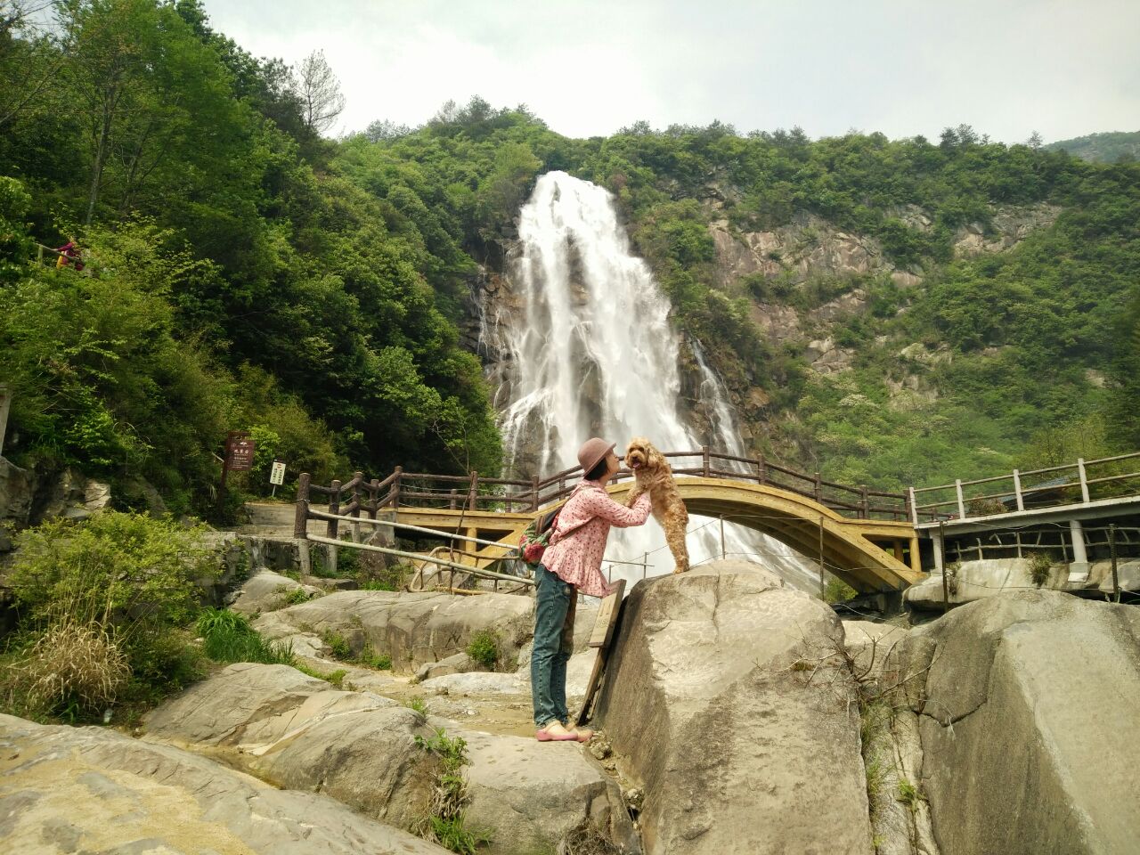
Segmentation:
<svg viewBox="0 0 1140 855">
<path fill-rule="evenodd" d="M 258 431 L 261 465 L 318 475 L 496 472 L 457 323 L 553 169 L 616 194 L 677 326 L 777 457 L 893 487 L 1140 447 L 1138 165 L 968 127 L 813 141 L 635 123 L 576 140 L 479 99 L 329 141 L 287 70 L 193 0 L 64 8 L 51 38 L 0 32 L 0 378 L 21 462 L 138 475 L 199 510 L 229 429 Z M 1059 213 L 1011 250 L 955 253 L 962 229 L 992 237 L 999 212 L 1032 205 Z M 725 278 L 710 223 L 742 235 L 807 214 L 885 267 L 805 276 L 773 253 L 779 270 Z M 816 230 L 797 233 L 804 252 Z M 72 235 L 92 276 L 33 263 L 34 242 Z M 799 319 L 782 341 L 760 324 L 776 310 Z M 845 370 L 809 367 L 824 336 L 852 353 Z M 899 384 L 922 396 L 899 406 Z"/>
</svg>

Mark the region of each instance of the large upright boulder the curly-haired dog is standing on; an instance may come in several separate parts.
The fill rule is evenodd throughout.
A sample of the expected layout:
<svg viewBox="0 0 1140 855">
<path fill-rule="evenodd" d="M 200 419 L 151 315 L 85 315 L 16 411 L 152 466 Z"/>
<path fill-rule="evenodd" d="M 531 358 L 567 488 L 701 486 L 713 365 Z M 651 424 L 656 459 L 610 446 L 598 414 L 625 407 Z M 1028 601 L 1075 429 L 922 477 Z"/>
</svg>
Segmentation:
<svg viewBox="0 0 1140 855">
<path fill-rule="evenodd" d="M 858 705 L 831 609 L 757 564 L 638 583 L 595 718 L 646 853 L 862 853 Z"/>
</svg>

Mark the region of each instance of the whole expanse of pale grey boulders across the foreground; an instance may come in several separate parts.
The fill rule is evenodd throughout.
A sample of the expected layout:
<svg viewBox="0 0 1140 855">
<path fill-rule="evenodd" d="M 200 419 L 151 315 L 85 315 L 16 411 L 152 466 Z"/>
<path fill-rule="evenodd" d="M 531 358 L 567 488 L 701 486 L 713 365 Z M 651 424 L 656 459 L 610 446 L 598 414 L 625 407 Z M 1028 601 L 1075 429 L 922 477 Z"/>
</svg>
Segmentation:
<svg viewBox="0 0 1140 855">
<path fill-rule="evenodd" d="M 3 850 L 443 852 L 415 836 L 440 732 L 465 743 L 464 819 L 488 853 L 1091 854 L 1140 836 L 1132 606 L 1024 591 L 910 628 L 840 621 L 755 564 L 650 579 L 579 746 L 532 738 L 528 597 L 285 605 L 278 586 L 254 577 L 239 601 L 335 684 L 238 663 L 131 733 L 0 717 Z M 464 652 L 483 629 L 494 671 Z M 394 671 L 339 661 L 329 633 Z"/>
</svg>

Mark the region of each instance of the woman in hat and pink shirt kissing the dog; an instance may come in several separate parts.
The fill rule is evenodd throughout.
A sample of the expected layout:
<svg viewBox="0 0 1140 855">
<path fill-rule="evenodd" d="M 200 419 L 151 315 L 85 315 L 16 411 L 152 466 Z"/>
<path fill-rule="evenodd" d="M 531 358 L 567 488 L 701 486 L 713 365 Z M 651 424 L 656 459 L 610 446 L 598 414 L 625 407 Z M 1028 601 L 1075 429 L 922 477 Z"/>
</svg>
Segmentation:
<svg viewBox="0 0 1140 855">
<path fill-rule="evenodd" d="M 535 734 L 539 742 L 588 742 L 591 731 L 570 724 L 567 710 L 567 662 L 573 651 L 575 606 L 578 592 L 605 596 L 602 555 L 610 527 L 641 526 L 649 519 L 648 492 L 633 507 L 620 505 L 605 491 L 620 469 L 614 443 L 594 437 L 578 449 L 583 482 L 567 499 L 554 523 L 551 546 L 535 569 L 535 650 L 530 654 L 530 693 L 535 703 Z"/>
</svg>

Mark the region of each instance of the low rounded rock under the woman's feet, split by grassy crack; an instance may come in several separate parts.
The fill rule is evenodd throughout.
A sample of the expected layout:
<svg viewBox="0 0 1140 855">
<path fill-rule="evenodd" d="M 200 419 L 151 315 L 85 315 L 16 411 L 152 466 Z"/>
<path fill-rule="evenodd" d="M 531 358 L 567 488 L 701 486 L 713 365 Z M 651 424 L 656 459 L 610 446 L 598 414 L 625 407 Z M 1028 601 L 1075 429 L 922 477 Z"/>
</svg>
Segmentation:
<svg viewBox="0 0 1140 855">
<path fill-rule="evenodd" d="M 154 710 L 146 728 L 147 739 L 223 751 L 266 781 L 319 790 L 405 829 L 425 815 L 438 772 L 416 736 L 442 728 L 467 743 L 467 824 L 492 830 L 489 853 L 553 850 L 578 826 L 635 852 L 620 790 L 577 743 L 543 744 L 427 719 L 286 666 L 229 666 Z"/>
</svg>

